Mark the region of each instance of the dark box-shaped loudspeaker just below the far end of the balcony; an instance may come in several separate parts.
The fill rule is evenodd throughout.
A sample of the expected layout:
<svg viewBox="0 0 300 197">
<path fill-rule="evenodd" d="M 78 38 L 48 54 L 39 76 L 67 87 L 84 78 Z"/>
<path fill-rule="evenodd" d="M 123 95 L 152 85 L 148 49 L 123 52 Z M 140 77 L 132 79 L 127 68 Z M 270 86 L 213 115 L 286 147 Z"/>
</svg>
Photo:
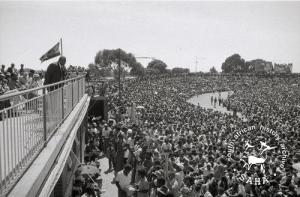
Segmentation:
<svg viewBox="0 0 300 197">
<path fill-rule="evenodd" d="M 89 105 L 89 115 L 101 116 L 102 119 L 107 120 L 108 118 L 108 106 L 107 100 L 103 96 L 92 97 Z"/>
</svg>

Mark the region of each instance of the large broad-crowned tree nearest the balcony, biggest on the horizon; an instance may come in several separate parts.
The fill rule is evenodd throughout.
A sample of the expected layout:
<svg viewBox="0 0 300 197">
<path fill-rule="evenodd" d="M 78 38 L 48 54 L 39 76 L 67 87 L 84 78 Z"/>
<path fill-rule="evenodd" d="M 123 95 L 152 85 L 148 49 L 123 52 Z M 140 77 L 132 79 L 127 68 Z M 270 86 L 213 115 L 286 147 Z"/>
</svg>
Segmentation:
<svg viewBox="0 0 300 197">
<path fill-rule="evenodd" d="M 122 49 L 104 49 L 99 51 L 95 56 L 95 64 L 104 70 L 110 70 L 115 73 L 119 70 L 118 63 L 121 61 L 121 72 L 130 73 L 133 75 L 143 75 L 144 67 L 136 61 L 136 58 L 131 53 L 126 53 Z"/>
</svg>

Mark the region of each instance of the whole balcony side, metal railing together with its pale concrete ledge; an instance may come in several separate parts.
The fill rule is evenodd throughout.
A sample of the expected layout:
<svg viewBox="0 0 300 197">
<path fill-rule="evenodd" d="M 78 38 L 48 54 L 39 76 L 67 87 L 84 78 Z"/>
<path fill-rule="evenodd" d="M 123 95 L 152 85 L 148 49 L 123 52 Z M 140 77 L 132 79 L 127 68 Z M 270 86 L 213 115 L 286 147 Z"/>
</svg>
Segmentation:
<svg viewBox="0 0 300 197">
<path fill-rule="evenodd" d="M 28 98 L 33 92 L 41 93 Z M 26 99 L 14 102 L 20 96 Z M 90 101 L 84 77 L 0 97 L 7 101 L 11 106 L 0 110 L 0 196 L 51 196 L 61 182 L 68 192 L 83 160 Z"/>
</svg>

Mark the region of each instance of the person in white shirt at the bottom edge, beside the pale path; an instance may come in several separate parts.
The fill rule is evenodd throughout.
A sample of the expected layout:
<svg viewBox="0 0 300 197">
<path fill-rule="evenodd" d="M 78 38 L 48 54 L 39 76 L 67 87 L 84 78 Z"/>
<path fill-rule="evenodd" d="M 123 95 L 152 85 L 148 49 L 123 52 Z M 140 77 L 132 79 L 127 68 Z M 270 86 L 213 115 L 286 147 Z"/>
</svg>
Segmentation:
<svg viewBox="0 0 300 197">
<path fill-rule="evenodd" d="M 118 197 L 127 197 L 128 188 L 131 183 L 131 165 L 127 164 L 123 171 L 116 175 L 116 186 L 118 187 Z"/>
</svg>

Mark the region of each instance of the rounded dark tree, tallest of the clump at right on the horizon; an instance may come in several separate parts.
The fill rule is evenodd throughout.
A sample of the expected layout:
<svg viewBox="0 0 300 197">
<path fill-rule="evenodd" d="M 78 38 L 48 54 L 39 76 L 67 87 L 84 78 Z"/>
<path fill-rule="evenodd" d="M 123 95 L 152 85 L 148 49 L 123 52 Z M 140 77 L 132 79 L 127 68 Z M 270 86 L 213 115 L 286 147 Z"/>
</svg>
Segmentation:
<svg viewBox="0 0 300 197">
<path fill-rule="evenodd" d="M 234 54 L 223 62 L 222 71 L 225 73 L 246 72 L 245 60 L 239 54 Z"/>
</svg>

